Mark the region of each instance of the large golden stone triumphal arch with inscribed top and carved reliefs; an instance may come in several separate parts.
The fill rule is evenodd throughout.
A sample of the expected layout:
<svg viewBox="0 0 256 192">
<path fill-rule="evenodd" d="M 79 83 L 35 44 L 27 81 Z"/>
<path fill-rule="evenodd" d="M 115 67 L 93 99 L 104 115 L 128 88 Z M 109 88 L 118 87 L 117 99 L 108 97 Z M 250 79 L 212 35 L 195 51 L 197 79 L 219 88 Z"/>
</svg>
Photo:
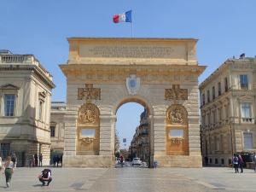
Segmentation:
<svg viewBox="0 0 256 192">
<path fill-rule="evenodd" d="M 116 112 L 148 109 L 149 164 L 201 166 L 194 38 L 68 38 L 63 166 L 114 165 Z"/>
</svg>

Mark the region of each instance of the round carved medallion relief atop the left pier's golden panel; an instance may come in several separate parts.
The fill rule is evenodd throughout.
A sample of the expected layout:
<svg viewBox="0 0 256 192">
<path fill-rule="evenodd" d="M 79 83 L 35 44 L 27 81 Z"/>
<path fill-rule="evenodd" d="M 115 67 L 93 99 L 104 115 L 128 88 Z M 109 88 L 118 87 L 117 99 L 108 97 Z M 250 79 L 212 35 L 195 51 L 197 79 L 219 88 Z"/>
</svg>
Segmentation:
<svg viewBox="0 0 256 192">
<path fill-rule="evenodd" d="M 86 103 L 79 108 L 79 125 L 97 124 L 99 121 L 99 109 L 92 103 Z"/>
</svg>

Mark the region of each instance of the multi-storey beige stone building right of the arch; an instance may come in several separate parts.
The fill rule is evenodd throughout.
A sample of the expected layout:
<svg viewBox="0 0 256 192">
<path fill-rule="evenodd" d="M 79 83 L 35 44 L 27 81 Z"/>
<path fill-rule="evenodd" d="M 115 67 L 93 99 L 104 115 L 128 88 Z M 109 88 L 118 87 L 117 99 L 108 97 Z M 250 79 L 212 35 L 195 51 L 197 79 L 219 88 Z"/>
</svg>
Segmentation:
<svg viewBox="0 0 256 192">
<path fill-rule="evenodd" d="M 232 154 L 256 150 L 256 59 L 228 59 L 200 84 L 205 164 L 228 166 Z"/>
</svg>

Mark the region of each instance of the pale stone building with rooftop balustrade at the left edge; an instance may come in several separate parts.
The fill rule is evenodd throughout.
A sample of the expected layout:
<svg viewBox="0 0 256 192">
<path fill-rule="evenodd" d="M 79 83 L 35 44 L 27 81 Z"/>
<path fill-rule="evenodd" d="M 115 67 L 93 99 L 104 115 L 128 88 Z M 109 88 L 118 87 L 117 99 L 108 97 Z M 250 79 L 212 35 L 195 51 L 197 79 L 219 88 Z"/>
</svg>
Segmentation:
<svg viewBox="0 0 256 192">
<path fill-rule="evenodd" d="M 49 113 L 52 76 L 34 55 L 0 51 L 0 150 L 5 158 L 18 155 L 26 166 L 32 154 L 44 155 L 49 165 Z"/>
</svg>

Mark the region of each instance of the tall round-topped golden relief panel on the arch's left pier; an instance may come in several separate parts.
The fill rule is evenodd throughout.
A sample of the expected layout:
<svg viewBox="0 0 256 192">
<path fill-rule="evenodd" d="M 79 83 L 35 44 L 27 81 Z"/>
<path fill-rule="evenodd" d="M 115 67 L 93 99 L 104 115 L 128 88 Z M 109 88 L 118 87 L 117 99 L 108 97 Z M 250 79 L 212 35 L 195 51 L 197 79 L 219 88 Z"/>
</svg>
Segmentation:
<svg viewBox="0 0 256 192">
<path fill-rule="evenodd" d="M 92 103 L 79 108 L 77 124 L 77 154 L 94 155 L 100 150 L 99 109 Z"/>
</svg>

